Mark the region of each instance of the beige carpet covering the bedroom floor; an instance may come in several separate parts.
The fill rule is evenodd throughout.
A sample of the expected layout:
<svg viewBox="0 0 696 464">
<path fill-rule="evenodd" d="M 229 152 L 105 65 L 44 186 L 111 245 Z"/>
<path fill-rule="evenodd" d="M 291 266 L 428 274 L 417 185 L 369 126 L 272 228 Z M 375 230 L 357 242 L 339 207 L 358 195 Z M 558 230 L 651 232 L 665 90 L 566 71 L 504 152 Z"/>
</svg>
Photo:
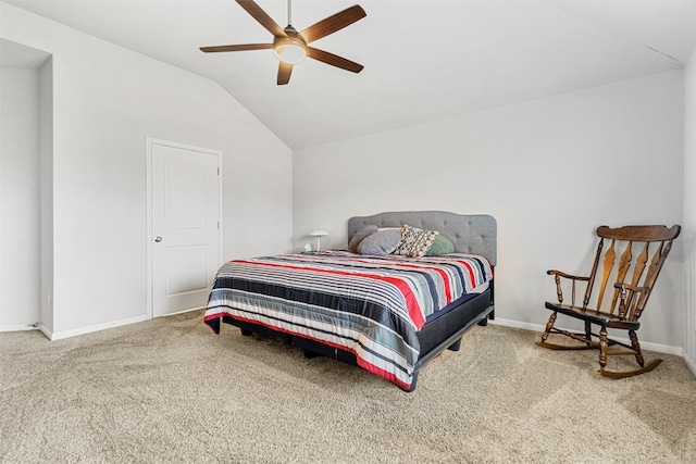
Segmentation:
<svg viewBox="0 0 696 464">
<path fill-rule="evenodd" d="M 406 393 L 191 312 L 67 340 L 0 334 L 3 463 L 694 463 L 676 356 L 624 380 L 534 333 L 464 336 Z"/>
</svg>

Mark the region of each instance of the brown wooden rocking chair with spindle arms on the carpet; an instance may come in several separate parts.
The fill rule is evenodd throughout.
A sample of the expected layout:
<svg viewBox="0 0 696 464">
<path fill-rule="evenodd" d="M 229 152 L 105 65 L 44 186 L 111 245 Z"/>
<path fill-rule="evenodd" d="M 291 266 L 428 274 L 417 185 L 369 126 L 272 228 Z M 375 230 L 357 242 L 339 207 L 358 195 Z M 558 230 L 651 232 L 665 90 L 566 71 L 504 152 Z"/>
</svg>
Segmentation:
<svg viewBox="0 0 696 464">
<path fill-rule="evenodd" d="M 645 364 L 635 331 L 641 325 L 638 319 L 645 310 L 645 304 L 650 297 L 662 264 L 664 264 L 664 260 L 672 248 L 672 240 L 679 236 L 681 226 L 678 225 L 671 228 L 666 226 L 598 227 L 599 243 L 595 262 L 588 276 L 574 276 L 555 269 L 547 271 L 547 274 L 552 275 L 556 280 L 558 303 L 546 303 L 546 308 L 551 310 L 552 313 L 546 324 L 546 330 L 542 335 L 542 341 L 536 344 L 552 350 L 599 349 L 599 374 L 610 378 L 630 377 L 657 367 L 662 360 L 654 360 L 647 365 Z M 605 241 L 609 246 L 602 259 Z M 633 249 L 637 253 L 635 260 Z M 621 258 L 619 266 L 614 269 L 614 261 L 618 253 L 621 253 Z M 651 258 L 650 253 L 652 253 Z M 600 261 L 602 262 L 601 271 L 598 271 Z M 575 305 L 575 286 L 577 283 L 584 283 L 585 285 L 582 305 Z M 610 283 L 614 283 L 613 291 Z M 571 287 L 570 304 L 563 304 L 561 284 L 566 287 Z M 588 304 L 595 284 L 598 284 L 597 303 L 595 309 L 591 309 Z M 607 292 L 608 285 L 609 291 Z M 611 294 L 608 311 L 601 311 L 605 293 L 607 296 Z M 558 313 L 584 321 L 585 333 L 576 334 L 555 327 Z M 599 334 L 592 331 L 593 324 L 599 326 Z M 610 339 L 607 335 L 607 328 L 627 330 L 631 346 Z M 582 344 L 554 344 L 547 341 L 549 334 L 562 334 L 582 342 Z M 608 347 L 614 344 L 623 349 L 608 349 Z M 611 372 L 605 368 L 607 366 L 607 356 L 625 354 L 634 355 L 641 367 L 629 372 Z"/>
</svg>

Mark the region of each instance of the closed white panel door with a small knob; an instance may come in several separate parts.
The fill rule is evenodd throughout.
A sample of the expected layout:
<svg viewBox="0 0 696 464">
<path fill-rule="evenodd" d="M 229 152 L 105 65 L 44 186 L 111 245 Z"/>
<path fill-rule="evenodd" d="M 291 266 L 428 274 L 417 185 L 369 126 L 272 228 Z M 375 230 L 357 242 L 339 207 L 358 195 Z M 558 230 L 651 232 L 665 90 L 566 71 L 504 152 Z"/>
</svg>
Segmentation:
<svg viewBox="0 0 696 464">
<path fill-rule="evenodd" d="M 148 140 L 153 316 L 202 308 L 220 266 L 220 152 Z"/>
</svg>

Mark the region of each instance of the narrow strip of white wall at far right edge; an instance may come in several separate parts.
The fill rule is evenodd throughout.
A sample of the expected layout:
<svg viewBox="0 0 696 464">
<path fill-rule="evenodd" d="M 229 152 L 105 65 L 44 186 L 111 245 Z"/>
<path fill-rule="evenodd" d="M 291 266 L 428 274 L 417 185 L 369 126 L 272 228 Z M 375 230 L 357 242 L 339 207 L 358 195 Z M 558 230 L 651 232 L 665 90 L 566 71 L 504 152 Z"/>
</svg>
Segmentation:
<svg viewBox="0 0 696 464">
<path fill-rule="evenodd" d="M 696 52 L 684 75 L 684 358 L 696 375 Z"/>
</svg>

